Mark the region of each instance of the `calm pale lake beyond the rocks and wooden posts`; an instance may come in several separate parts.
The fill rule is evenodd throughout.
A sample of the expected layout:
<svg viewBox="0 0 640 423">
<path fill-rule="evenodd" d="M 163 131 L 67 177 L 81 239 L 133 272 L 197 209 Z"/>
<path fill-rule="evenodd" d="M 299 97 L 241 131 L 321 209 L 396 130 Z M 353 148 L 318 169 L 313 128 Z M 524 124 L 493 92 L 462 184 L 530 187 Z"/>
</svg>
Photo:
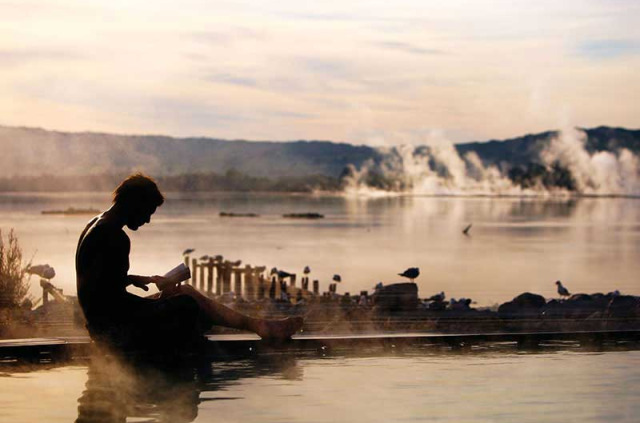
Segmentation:
<svg viewBox="0 0 640 423">
<path fill-rule="evenodd" d="M 42 210 L 109 207 L 109 194 L 1 194 L 0 228 L 14 228 L 25 257 L 48 263 L 53 283 L 75 293 L 74 252 L 90 216 L 42 215 Z M 175 194 L 132 240 L 131 272 L 162 274 L 182 261 L 221 254 L 243 264 L 301 273 L 339 292 L 371 289 L 419 267 L 422 297 L 445 291 L 479 305 L 531 291 L 554 297 L 554 282 L 572 292 L 640 294 L 640 199 L 383 197 Z M 223 218 L 221 211 L 257 213 Z M 282 214 L 318 212 L 318 220 Z M 470 236 L 462 234 L 473 224 Z M 39 289 L 32 289 L 39 297 Z"/>
</svg>

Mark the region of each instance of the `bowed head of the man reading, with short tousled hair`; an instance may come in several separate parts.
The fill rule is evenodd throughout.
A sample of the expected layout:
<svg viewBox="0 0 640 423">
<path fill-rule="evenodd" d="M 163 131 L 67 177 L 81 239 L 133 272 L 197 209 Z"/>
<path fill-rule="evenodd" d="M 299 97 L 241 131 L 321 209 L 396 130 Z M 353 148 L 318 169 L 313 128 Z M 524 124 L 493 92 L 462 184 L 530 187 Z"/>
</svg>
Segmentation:
<svg viewBox="0 0 640 423">
<path fill-rule="evenodd" d="M 156 208 L 164 203 L 164 196 L 155 181 L 136 173 L 122 181 L 113 191 L 113 204 L 125 214 L 125 224 L 136 230 L 151 221 Z"/>
</svg>

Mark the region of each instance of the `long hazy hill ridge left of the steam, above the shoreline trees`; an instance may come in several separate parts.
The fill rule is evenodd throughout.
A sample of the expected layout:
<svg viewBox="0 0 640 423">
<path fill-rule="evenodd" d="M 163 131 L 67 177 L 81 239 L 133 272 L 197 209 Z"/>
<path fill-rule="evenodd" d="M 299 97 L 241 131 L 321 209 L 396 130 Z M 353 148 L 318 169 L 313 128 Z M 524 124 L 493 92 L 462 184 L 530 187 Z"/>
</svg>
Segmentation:
<svg viewBox="0 0 640 423">
<path fill-rule="evenodd" d="M 378 152 L 327 141 L 250 142 L 67 133 L 0 126 L 0 177 L 96 175 L 142 170 L 156 176 L 226 173 L 259 177 L 337 176 Z"/>
</svg>

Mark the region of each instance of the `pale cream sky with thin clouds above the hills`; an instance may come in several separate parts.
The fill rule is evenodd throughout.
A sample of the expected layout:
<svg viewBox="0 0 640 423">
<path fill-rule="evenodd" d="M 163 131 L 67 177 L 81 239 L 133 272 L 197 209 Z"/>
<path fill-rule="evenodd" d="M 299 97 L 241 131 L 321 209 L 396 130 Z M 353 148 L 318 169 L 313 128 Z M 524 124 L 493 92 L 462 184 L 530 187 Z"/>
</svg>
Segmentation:
<svg viewBox="0 0 640 423">
<path fill-rule="evenodd" d="M 422 144 L 638 128 L 637 0 L 0 0 L 0 125 Z"/>
</svg>

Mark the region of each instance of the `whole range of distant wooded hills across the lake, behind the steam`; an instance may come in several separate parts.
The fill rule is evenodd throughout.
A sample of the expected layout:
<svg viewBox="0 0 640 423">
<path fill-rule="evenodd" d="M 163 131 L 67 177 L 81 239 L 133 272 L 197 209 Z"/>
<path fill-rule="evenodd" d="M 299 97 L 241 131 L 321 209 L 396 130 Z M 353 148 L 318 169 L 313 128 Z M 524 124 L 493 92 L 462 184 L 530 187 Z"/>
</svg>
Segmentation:
<svg viewBox="0 0 640 423">
<path fill-rule="evenodd" d="M 589 152 L 626 148 L 640 153 L 640 131 L 584 129 Z M 483 164 L 497 165 L 512 181 L 530 186 L 571 189 L 572 175 L 558 165 L 548 168 L 541 152 L 558 135 L 548 131 L 498 141 L 457 144 L 460 156 L 475 152 Z M 380 164 L 388 152 L 329 141 L 253 142 L 213 138 L 67 133 L 0 126 L 0 190 L 97 189 L 113 186 L 122 175 L 144 171 L 175 189 L 310 190 L 340 189 L 345 168 Z M 423 154 L 429 147 L 416 148 Z M 74 176 L 83 176 L 78 179 Z M 388 182 L 372 173 L 373 186 Z M 78 184 L 77 182 L 81 183 Z"/>
</svg>

